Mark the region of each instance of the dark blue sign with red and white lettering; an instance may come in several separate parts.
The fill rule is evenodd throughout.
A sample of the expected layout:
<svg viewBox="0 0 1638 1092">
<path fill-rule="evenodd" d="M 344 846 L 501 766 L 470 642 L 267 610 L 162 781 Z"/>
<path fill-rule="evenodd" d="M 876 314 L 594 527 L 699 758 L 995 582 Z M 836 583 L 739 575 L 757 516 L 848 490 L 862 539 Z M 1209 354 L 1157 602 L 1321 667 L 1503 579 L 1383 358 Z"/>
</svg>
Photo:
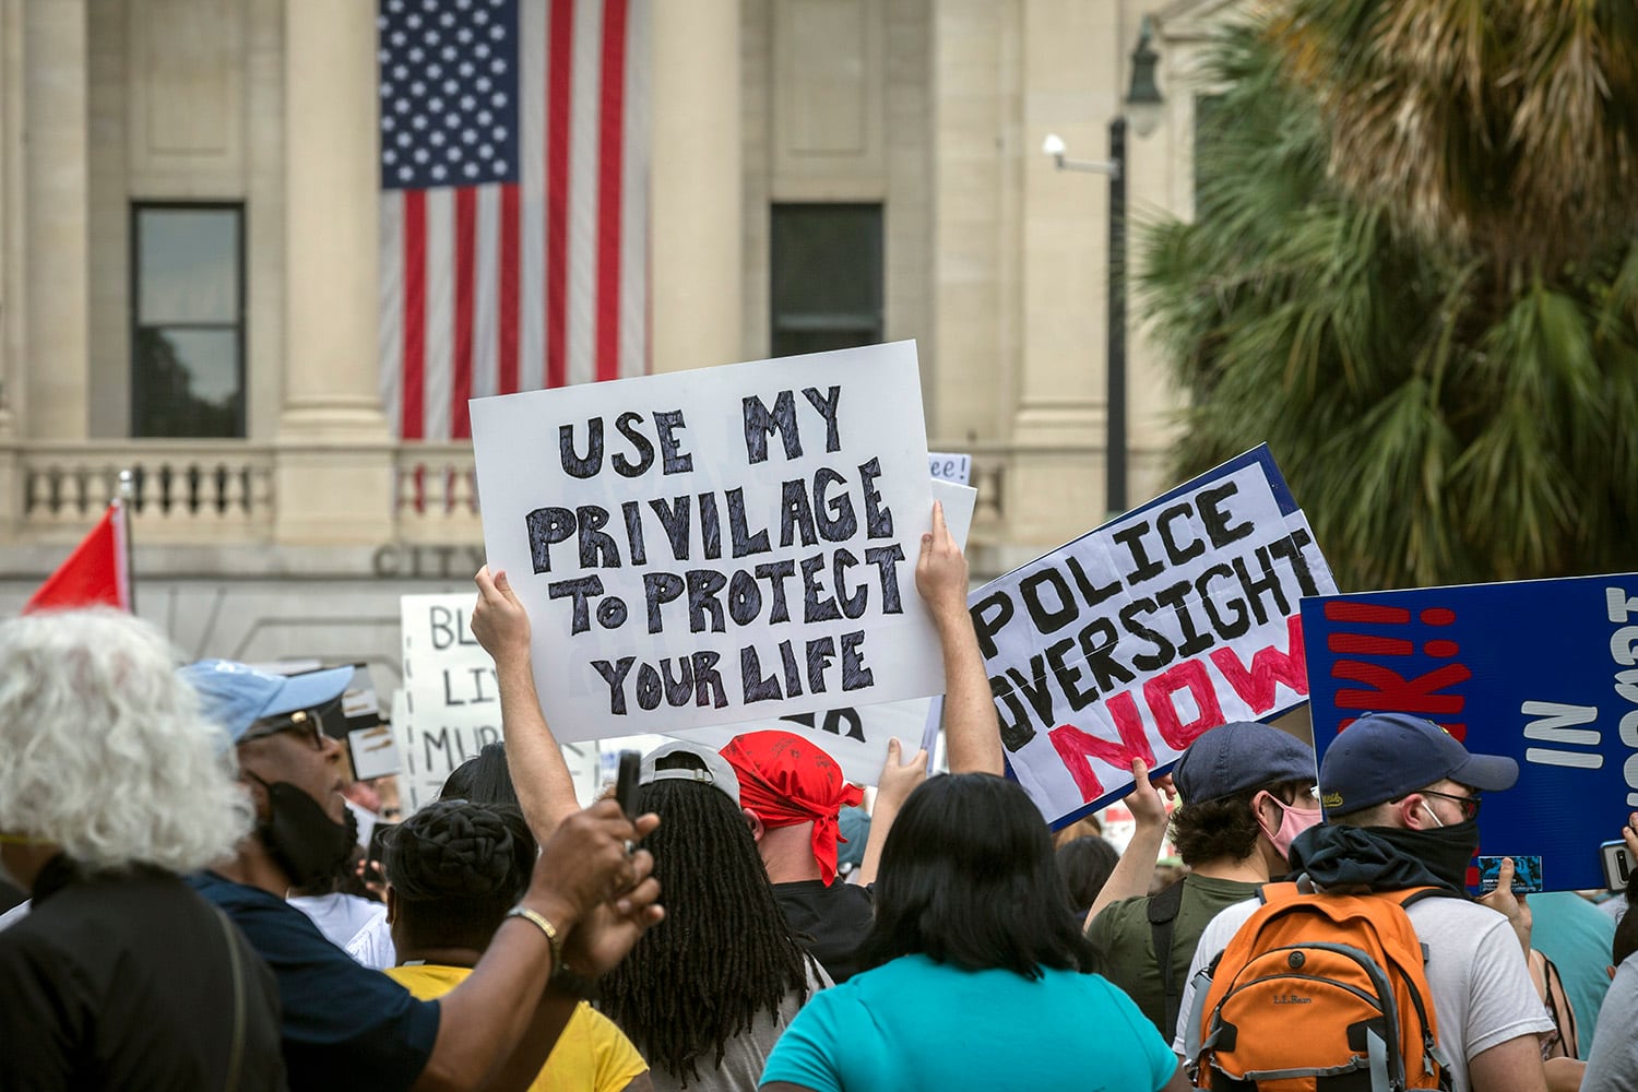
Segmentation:
<svg viewBox="0 0 1638 1092">
<path fill-rule="evenodd" d="M 1604 886 L 1599 843 L 1638 810 L 1638 575 L 1332 594 L 1302 627 L 1322 756 L 1364 712 L 1427 717 L 1518 761 L 1479 853 L 1540 856 L 1546 891 Z"/>
</svg>

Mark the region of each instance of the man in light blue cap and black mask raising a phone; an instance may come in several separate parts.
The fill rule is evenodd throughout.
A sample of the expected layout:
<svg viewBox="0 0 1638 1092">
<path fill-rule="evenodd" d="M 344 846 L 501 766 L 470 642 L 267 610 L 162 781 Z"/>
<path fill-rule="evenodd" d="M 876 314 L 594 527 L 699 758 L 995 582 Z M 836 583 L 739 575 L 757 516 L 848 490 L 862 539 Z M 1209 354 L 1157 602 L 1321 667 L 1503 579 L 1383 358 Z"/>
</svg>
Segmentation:
<svg viewBox="0 0 1638 1092">
<path fill-rule="evenodd" d="M 472 976 L 439 1000 L 416 1000 L 283 899 L 351 842 L 341 745 L 319 711 L 352 668 L 285 678 L 206 660 L 180 675 L 231 740 L 257 817 L 234 856 L 193 886 L 278 979 L 292 1087 L 526 1089 L 580 1000 L 560 972 L 570 963 L 606 971 L 663 917 L 654 858 L 629 851 L 660 820 L 632 822 L 603 801 L 563 819 L 542 845 L 527 892 Z"/>
</svg>

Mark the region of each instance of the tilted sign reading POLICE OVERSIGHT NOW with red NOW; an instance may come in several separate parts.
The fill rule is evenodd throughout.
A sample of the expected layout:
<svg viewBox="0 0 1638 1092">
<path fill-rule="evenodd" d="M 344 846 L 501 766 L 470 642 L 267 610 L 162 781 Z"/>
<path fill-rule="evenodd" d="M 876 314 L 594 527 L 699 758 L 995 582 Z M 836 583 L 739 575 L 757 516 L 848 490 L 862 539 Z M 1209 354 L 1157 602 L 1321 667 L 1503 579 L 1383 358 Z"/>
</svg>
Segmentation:
<svg viewBox="0 0 1638 1092">
<path fill-rule="evenodd" d="M 1207 729 L 1307 697 L 1302 596 L 1335 591 L 1256 447 L 968 598 L 1007 763 L 1061 827 Z"/>
</svg>

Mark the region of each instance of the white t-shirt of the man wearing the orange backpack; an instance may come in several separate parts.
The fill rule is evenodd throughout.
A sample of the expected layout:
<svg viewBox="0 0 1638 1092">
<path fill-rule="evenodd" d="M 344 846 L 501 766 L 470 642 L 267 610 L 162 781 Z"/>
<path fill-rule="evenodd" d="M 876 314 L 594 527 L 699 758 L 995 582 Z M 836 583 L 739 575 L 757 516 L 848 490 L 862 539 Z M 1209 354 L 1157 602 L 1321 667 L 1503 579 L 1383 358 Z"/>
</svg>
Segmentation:
<svg viewBox="0 0 1638 1092">
<path fill-rule="evenodd" d="M 1178 1035 L 1171 1041 L 1179 1056 L 1194 1007 L 1194 976 L 1228 946 L 1260 905 L 1256 899 L 1237 902 L 1201 933 L 1183 987 Z M 1471 1058 L 1522 1035 L 1551 1031 L 1553 1020 L 1536 997 L 1525 951 L 1505 917 L 1466 899 L 1422 899 L 1405 914 L 1428 948 L 1428 990 L 1438 1017 L 1438 1045 L 1450 1059 L 1453 1092 L 1469 1092 Z"/>
</svg>

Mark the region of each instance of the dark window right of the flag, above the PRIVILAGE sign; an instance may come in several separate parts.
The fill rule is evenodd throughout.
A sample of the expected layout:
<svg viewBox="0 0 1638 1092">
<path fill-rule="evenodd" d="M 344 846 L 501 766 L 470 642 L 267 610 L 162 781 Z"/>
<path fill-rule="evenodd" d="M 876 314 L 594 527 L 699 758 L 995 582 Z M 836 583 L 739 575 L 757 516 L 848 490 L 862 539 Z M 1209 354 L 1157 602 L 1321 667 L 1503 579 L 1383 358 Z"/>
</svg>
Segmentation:
<svg viewBox="0 0 1638 1092">
<path fill-rule="evenodd" d="M 875 345 L 881 319 L 881 206 L 773 206 L 773 355 Z"/>
</svg>

